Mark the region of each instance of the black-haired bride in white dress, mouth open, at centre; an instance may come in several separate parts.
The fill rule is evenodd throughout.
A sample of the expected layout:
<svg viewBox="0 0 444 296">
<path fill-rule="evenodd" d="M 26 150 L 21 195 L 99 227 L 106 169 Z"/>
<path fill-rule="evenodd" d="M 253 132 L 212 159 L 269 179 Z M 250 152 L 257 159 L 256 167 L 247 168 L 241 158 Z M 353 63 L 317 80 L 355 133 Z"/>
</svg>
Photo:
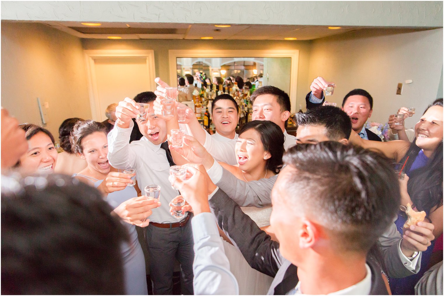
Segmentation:
<svg viewBox="0 0 444 296">
<path fill-rule="evenodd" d="M 235 146 L 238 164 L 220 163 L 242 181 L 270 178 L 279 172 L 284 153 L 284 135 L 278 125 L 271 121 L 251 121 L 242 127 Z M 262 208 L 242 207 L 256 224 L 276 240 L 270 229 L 271 205 Z M 222 232 L 222 231 L 221 231 Z M 224 238 L 225 254 L 230 261 L 230 270 L 238 280 L 240 295 L 266 295 L 273 278 L 250 267 L 242 253 Z"/>
</svg>

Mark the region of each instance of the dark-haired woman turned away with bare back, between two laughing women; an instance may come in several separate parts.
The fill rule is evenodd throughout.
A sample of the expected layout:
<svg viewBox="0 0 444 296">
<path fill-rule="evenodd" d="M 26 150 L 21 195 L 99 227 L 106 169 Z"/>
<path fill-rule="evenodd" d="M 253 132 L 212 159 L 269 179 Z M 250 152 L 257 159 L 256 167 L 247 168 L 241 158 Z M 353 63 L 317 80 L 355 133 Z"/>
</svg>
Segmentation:
<svg viewBox="0 0 444 296">
<path fill-rule="evenodd" d="M 87 167 L 85 160 L 80 158 L 71 148 L 71 131 L 78 121 L 85 121 L 82 118 L 73 117 L 65 119 L 59 127 L 60 148 L 63 152 L 59 153 L 55 172 L 59 174 L 72 175 Z"/>
</svg>

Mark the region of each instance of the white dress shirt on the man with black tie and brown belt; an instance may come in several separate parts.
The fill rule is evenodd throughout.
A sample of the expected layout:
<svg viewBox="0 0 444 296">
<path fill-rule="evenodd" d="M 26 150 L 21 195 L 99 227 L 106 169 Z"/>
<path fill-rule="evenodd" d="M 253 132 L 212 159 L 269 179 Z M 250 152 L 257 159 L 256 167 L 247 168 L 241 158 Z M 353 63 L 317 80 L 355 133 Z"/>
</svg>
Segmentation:
<svg viewBox="0 0 444 296">
<path fill-rule="evenodd" d="M 116 125 L 108 133 L 108 160 L 115 168 L 134 168 L 142 194 L 145 194 L 143 188 L 147 185 L 160 186 L 159 202 L 162 205 L 152 210 L 153 213 L 149 217 L 151 222 L 179 222 L 170 214 L 170 206 L 168 205 L 171 199 L 178 195 L 178 191 L 174 190 L 168 181 L 170 164 L 166 158 L 165 150 L 160 148 L 160 144 L 151 143 L 145 136 L 129 144 L 133 126 L 133 121 L 130 122 L 128 129 Z"/>
</svg>

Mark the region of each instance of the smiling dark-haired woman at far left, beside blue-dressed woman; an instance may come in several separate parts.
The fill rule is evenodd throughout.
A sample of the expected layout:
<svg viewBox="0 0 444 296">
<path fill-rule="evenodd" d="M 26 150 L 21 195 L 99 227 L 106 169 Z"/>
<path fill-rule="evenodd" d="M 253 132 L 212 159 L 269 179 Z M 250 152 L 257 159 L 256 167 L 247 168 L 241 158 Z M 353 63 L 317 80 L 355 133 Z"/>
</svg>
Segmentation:
<svg viewBox="0 0 444 296">
<path fill-rule="evenodd" d="M 51 132 L 32 123 L 24 123 L 19 127 L 25 131 L 29 148 L 15 167 L 28 174 L 53 173 L 57 163 L 57 150 Z"/>
</svg>

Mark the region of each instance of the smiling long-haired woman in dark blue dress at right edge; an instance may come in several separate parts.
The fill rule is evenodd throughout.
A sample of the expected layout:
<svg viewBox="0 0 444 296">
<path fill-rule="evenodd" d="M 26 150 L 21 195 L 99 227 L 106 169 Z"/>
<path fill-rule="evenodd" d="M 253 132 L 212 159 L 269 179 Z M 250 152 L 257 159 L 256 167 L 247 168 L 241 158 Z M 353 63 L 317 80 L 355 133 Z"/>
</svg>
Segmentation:
<svg viewBox="0 0 444 296">
<path fill-rule="evenodd" d="M 426 212 L 426 220 L 433 224 L 433 236 L 438 238 L 443 233 L 443 99 L 435 100 L 424 111 L 420 121 L 415 125 L 415 138 L 412 143 L 406 141 L 376 142 L 362 140 L 352 132 L 350 140 L 365 148 L 378 149 L 387 157 L 404 165 L 406 176 L 400 181 L 401 203 L 410 203 L 413 210 Z M 359 138 L 359 139 L 358 139 Z M 398 215 L 396 226 L 404 240 L 411 242 L 417 236 L 411 230 L 403 229 L 406 217 Z M 415 226 L 416 230 L 422 227 Z M 428 262 L 435 241 L 424 243 L 421 269 L 416 275 L 404 279 L 391 279 L 393 294 L 412 295 L 414 286 L 427 270 Z"/>
</svg>

